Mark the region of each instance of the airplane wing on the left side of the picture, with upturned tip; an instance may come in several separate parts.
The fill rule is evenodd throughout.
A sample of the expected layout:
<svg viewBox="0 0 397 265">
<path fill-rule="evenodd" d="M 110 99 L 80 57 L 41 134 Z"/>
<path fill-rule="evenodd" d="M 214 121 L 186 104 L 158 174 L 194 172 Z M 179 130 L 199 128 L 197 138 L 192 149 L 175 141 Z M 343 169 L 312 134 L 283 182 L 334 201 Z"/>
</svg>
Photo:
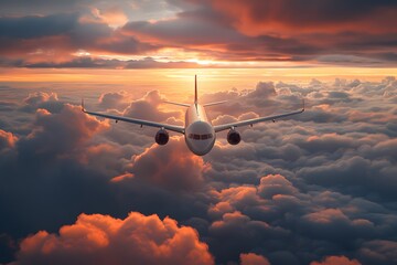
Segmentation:
<svg viewBox="0 0 397 265">
<path fill-rule="evenodd" d="M 116 116 L 116 115 L 110 115 L 110 114 L 88 112 L 84 108 L 84 102 L 82 102 L 82 110 L 83 110 L 83 113 L 86 113 L 89 115 L 94 115 L 94 116 L 98 116 L 98 117 L 103 117 L 103 118 L 115 119 L 116 121 L 122 120 L 126 123 L 137 124 L 137 125 L 141 125 L 141 126 L 144 125 L 144 126 L 150 126 L 150 127 L 164 128 L 168 130 L 184 134 L 184 127 L 182 127 L 182 126 L 161 124 L 161 123 L 155 123 L 155 121 L 150 121 L 150 120 L 144 120 L 144 119 L 136 119 L 136 118 Z"/>
</svg>

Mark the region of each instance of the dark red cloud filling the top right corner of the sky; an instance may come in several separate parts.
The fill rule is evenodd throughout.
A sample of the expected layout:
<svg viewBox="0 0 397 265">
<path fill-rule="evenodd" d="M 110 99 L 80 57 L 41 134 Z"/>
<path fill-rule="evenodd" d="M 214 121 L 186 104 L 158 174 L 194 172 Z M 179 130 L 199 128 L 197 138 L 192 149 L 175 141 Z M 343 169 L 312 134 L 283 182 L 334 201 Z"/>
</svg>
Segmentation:
<svg viewBox="0 0 397 265">
<path fill-rule="evenodd" d="M 283 30 L 292 33 L 293 29 L 311 31 L 352 31 L 369 25 L 369 21 L 384 15 L 375 25 L 368 30 L 375 31 L 377 26 L 384 25 L 386 32 L 393 31 L 388 22 L 393 17 L 387 9 L 396 9 L 391 1 L 379 2 L 305 2 L 283 0 L 280 2 L 247 1 L 227 2 L 224 0 L 212 1 L 215 10 L 224 13 L 233 21 L 233 24 L 247 34 L 261 34 Z"/>
</svg>

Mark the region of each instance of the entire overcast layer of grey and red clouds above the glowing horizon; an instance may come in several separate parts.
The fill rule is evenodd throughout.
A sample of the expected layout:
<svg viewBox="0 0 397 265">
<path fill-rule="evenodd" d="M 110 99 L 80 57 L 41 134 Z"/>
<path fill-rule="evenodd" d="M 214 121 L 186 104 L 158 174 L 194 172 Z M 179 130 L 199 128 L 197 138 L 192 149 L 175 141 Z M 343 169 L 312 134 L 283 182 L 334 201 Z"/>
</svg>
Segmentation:
<svg viewBox="0 0 397 265">
<path fill-rule="evenodd" d="M 201 67 L 191 61 L 210 59 L 393 66 L 396 32 L 390 25 L 395 24 L 395 10 L 396 4 L 388 0 L 208 0 L 163 1 L 160 6 L 125 0 L 75 0 L 67 6 L 60 1 L 4 1 L 0 18 L 1 64 L 169 68 Z M 89 56 L 79 59 L 78 54 Z M 119 60 L 115 54 L 147 59 Z"/>
</svg>

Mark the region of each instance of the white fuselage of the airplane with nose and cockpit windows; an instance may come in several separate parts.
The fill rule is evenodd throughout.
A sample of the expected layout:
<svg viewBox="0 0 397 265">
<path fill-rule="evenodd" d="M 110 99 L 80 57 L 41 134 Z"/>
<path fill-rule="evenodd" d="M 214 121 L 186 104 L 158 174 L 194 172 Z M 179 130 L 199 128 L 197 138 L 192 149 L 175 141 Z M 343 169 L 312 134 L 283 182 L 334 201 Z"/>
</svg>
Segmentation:
<svg viewBox="0 0 397 265">
<path fill-rule="evenodd" d="M 214 147 L 214 127 L 204 107 L 197 103 L 192 104 L 186 110 L 184 136 L 189 149 L 197 156 L 204 156 Z"/>
</svg>

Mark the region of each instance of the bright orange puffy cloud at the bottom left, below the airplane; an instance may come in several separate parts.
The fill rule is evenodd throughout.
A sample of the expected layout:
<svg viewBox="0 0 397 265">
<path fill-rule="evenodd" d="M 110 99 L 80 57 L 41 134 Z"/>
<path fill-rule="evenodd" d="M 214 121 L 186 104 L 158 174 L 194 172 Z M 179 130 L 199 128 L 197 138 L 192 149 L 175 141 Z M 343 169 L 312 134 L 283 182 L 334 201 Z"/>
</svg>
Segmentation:
<svg viewBox="0 0 397 265">
<path fill-rule="evenodd" d="M 14 264 L 214 264 L 192 227 L 131 212 L 124 220 L 81 214 L 60 234 L 37 232 L 21 242 Z"/>
</svg>

